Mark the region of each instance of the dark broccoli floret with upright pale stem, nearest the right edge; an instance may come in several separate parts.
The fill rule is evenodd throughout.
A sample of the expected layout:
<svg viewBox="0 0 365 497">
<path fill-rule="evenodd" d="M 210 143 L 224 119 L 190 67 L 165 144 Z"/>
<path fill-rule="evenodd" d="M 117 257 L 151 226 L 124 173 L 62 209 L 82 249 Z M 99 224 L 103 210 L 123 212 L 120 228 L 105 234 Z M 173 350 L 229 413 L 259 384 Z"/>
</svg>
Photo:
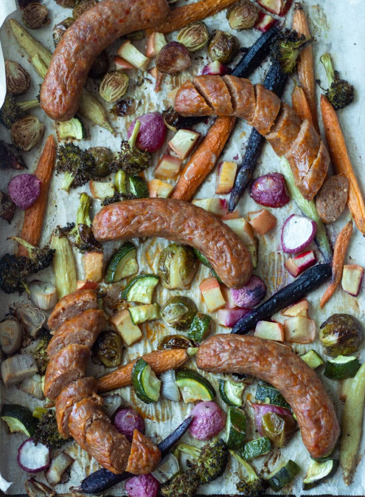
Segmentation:
<svg viewBox="0 0 365 497">
<path fill-rule="evenodd" d="M 331 102 L 335 110 L 343 109 L 354 101 L 354 86 L 340 78 L 340 73 L 333 70 L 330 54 L 323 54 L 320 58 L 326 71 L 329 88 L 325 96 Z"/>
</svg>

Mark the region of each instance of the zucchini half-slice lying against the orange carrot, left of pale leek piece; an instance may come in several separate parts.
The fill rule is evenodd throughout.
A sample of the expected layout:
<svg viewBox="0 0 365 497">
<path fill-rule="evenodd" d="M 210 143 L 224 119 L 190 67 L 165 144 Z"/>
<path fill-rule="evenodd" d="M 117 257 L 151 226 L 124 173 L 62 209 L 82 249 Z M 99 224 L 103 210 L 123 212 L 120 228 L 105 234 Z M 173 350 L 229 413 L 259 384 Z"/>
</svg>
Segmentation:
<svg viewBox="0 0 365 497">
<path fill-rule="evenodd" d="M 137 397 L 146 404 L 158 401 L 161 382 L 151 366 L 142 357 L 133 366 L 132 385 Z"/>
</svg>

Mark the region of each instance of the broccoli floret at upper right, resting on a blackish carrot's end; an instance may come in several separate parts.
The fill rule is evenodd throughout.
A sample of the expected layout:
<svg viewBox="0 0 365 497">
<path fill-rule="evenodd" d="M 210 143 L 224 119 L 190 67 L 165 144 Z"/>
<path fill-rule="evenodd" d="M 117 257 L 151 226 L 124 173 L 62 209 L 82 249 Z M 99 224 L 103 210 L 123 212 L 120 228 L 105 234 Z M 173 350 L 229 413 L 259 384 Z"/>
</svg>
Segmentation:
<svg viewBox="0 0 365 497">
<path fill-rule="evenodd" d="M 292 74 L 298 55 L 312 41 L 312 38 L 306 38 L 303 34 L 298 35 L 291 29 L 279 31 L 271 46 L 271 58 L 280 63 L 285 74 Z"/>
</svg>

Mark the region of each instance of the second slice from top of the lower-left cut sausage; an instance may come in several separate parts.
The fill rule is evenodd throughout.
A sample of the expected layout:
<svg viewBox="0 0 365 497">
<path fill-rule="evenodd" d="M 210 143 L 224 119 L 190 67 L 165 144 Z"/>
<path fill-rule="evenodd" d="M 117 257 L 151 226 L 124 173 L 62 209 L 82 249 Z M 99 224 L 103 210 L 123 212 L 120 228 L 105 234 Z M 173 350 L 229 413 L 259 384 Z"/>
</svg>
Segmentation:
<svg viewBox="0 0 365 497">
<path fill-rule="evenodd" d="M 103 311 L 89 309 L 65 321 L 55 332 L 47 347 L 49 357 L 70 343 L 91 348 L 105 326 Z"/>
</svg>

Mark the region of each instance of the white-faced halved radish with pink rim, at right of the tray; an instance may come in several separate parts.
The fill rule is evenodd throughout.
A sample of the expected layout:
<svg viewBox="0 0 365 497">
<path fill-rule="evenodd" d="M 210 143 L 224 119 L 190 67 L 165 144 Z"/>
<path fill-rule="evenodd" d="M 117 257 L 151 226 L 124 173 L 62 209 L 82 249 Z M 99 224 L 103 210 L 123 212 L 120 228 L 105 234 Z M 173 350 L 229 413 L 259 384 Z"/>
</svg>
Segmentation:
<svg viewBox="0 0 365 497">
<path fill-rule="evenodd" d="M 313 241 L 317 225 L 305 216 L 292 214 L 284 223 L 282 229 L 282 248 L 284 252 L 296 253 Z"/>
</svg>

